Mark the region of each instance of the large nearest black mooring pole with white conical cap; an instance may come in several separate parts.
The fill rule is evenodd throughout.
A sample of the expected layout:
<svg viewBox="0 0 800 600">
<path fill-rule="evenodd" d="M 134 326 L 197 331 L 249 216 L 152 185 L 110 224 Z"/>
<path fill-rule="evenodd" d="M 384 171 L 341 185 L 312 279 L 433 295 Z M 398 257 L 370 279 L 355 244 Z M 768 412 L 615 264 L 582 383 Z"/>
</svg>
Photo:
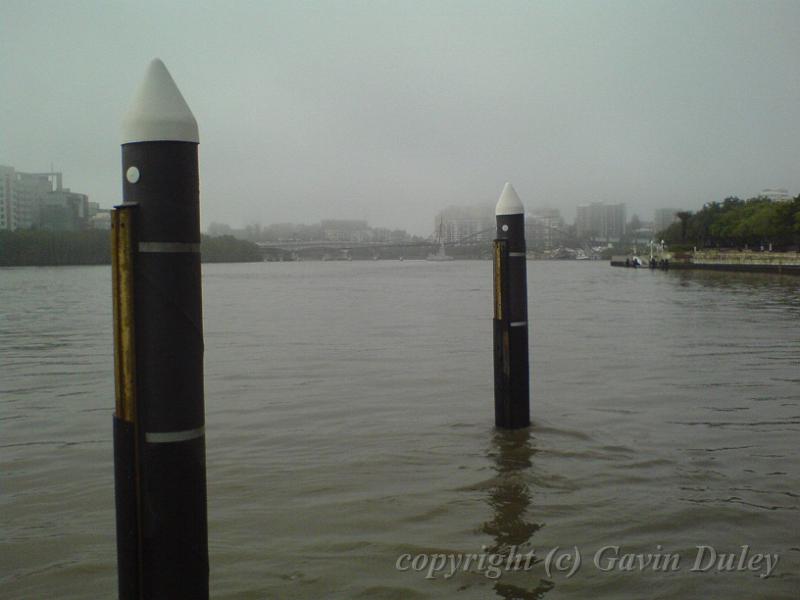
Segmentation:
<svg viewBox="0 0 800 600">
<path fill-rule="evenodd" d="M 112 217 L 122 599 L 208 598 L 197 123 L 164 63 L 123 122 Z"/>
</svg>

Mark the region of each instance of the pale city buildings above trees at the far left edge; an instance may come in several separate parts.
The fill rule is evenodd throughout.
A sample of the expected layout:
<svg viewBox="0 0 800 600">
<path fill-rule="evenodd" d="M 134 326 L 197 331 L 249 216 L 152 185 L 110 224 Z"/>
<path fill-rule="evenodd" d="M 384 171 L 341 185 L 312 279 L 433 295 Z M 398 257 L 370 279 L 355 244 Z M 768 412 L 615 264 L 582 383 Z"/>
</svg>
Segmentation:
<svg viewBox="0 0 800 600">
<path fill-rule="evenodd" d="M 89 199 L 62 186 L 61 173 L 0 166 L 0 229 L 85 229 Z"/>
</svg>

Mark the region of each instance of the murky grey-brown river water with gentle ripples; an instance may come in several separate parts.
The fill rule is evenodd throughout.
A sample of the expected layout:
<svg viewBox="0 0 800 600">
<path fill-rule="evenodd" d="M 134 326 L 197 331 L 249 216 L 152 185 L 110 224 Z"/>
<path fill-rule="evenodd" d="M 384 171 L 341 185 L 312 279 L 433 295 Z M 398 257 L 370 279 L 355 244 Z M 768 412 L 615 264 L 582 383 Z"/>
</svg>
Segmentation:
<svg viewBox="0 0 800 600">
<path fill-rule="evenodd" d="M 800 279 L 528 268 L 508 433 L 489 262 L 204 265 L 213 597 L 800 596 Z M 4 598 L 115 595 L 110 288 L 0 269 Z"/>
</svg>

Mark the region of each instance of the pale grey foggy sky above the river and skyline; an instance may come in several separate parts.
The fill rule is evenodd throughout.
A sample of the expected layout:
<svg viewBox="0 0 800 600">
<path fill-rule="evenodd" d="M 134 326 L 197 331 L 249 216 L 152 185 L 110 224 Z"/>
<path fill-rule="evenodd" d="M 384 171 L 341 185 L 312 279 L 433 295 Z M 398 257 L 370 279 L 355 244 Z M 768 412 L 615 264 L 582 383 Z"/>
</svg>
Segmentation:
<svg viewBox="0 0 800 600">
<path fill-rule="evenodd" d="M 200 128 L 203 226 L 450 204 L 800 193 L 800 2 L 2 0 L 0 164 L 120 201 L 154 57 Z"/>
</svg>

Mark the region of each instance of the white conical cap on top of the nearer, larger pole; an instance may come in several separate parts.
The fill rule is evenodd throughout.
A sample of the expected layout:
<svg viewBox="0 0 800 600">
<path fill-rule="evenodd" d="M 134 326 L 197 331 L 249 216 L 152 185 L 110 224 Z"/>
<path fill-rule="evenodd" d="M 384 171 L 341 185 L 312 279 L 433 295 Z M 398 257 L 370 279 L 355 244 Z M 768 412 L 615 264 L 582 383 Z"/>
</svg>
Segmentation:
<svg viewBox="0 0 800 600">
<path fill-rule="evenodd" d="M 156 58 L 147 67 L 122 121 L 122 143 L 200 141 L 197 121 L 167 67 Z"/>
</svg>

